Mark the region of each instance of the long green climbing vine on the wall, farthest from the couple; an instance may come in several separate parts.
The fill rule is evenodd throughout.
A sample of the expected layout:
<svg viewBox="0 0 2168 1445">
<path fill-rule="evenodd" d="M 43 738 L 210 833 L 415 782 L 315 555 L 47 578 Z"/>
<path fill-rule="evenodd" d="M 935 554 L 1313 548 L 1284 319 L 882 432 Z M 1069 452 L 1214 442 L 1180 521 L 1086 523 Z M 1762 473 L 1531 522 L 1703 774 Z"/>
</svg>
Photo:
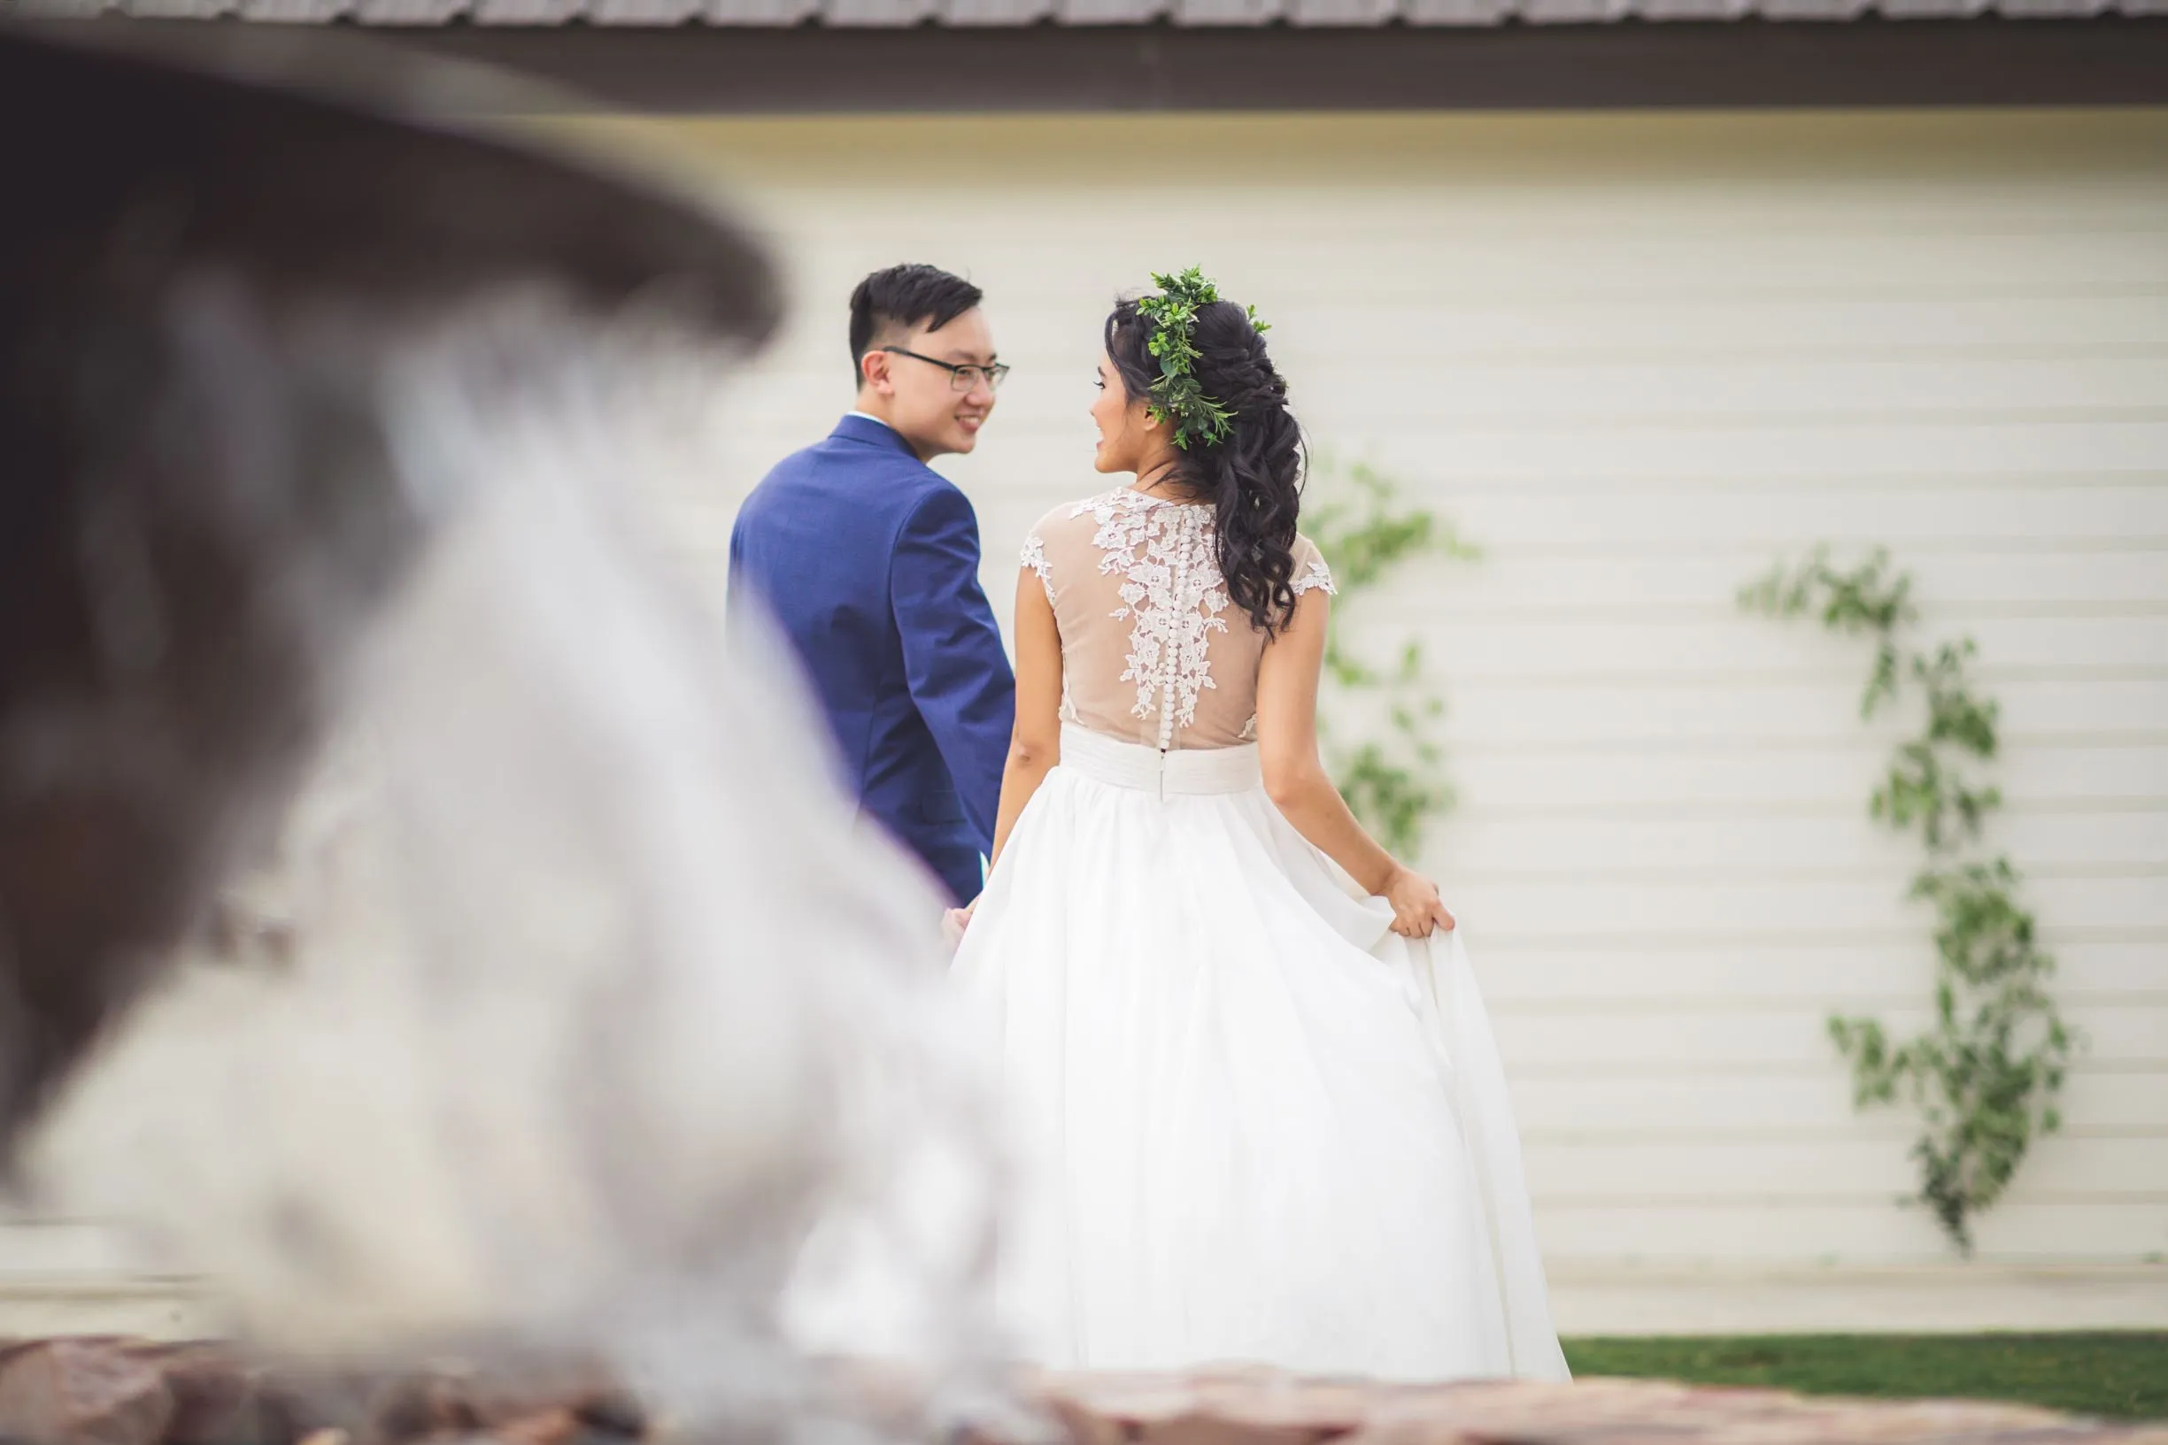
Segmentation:
<svg viewBox="0 0 2168 1445">
<path fill-rule="evenodd" d="M 1884 550 L 1838 570 L 1815 548 L 1743 587 L 1739 602 L 1771 617 L 1815 613 L 1832 633 L 1873 641 L 1862 719 L 1899 693 L 1921 698 L 1921 730 L 1890 754 L 1869 815 L 1917 834 L 1925 851 L 1910 897 L 1934 910 L 1934 1020 L 1895 1040 L 1880 1018 L 1832 1016 L 1830 1038 L 1851 1064 L 1856 1107 L 1904 1098 L 1919 1111 L 1919 1200 L 1971 1254 L 1973 1220 L 2001 1198 L 2031 1142 L 2062 1124 L 2057 1096 L 2079 1046 L 2047 990 L 2055 960 L 2018 901 L 2018 871 L 1982 843 L 2003 797 L 1971 769 L 1995 760 L 1999 706 L 1973 689 L 1971 637 L 1910 646 L 1912 578 L 1893 574 Z"/>
</svg>

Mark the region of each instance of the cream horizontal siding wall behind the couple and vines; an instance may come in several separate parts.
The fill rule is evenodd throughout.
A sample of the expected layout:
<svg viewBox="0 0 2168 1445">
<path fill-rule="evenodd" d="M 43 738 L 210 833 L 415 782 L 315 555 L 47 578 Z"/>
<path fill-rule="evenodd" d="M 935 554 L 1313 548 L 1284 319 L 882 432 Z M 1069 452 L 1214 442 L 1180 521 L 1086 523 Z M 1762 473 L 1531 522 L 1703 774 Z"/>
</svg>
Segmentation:
<svg viewBox="0 0 2168 1445">
<path fill-rule="evenodd" d="M 928 84 L 939 84 L 928 76 Z M 1487 550 L 1366 600 L 1450 695 L 1466 916 L 1557 1261 L 1936 1259 L 1830 1010 L 1919 1018 L 1914 854 L 1864 819 L 1864 654 L 1741 617 L 1888 544 L 1979 641 L 2008 812 L 2090 1036 L 2068 1129 L 1979 1231 L 2168 1250 L 2168 115 L 820 119 L 674 147 L 778 240 L 793 312 L 731 474 L 659 498 L 720 578 L 737 498 L 848 405 L 843 301 L 930 260 L 1017 370 L 969 459 L 986 583 L 1088 470 L 1108 299 L 1201 262 L 1275 323 L 1312 438 Z M 1173 171 L 1182 178 L 1173 178 Z"/>
</svg>

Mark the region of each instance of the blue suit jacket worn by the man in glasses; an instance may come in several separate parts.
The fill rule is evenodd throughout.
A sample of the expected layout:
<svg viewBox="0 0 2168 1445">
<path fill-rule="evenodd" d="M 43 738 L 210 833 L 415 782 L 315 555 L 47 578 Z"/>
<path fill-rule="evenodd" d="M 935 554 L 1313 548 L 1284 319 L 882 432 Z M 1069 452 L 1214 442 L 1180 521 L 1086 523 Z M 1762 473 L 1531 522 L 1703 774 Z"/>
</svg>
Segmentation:
<svg viewBox="0 0 2168 1445">
<path fill-rule="evenodd" d="M 846 416 L 731 529 L 731 604 L 783 624 L 867 812 L 978 895 L 1017 678 L 978 585 L 978 513 L 889 427 Z"/>
</svg>

